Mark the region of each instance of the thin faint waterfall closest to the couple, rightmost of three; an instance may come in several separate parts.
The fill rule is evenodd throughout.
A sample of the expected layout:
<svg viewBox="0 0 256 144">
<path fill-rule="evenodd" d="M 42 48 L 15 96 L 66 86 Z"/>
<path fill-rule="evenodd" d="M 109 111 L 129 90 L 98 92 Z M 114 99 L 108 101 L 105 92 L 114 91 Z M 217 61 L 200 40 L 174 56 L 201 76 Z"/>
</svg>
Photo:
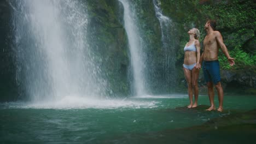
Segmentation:
<svg viewBox="0 0 256 144">
<path fill-rule="evenodd" d="M 160 22 L 161 27 L 161 42 L 162 42 L 162 49 L 164 52 L 164 73 L 163 77 L 166 80 L 166 87 L 170 88 L 172 91 L 174 90 L 173 87 L 175 86 L 175 61 L 176 61 L 176 29 L 172 20 L 162 15 L 162 10 L 160 8 L 160 2 L 158 0 L 153 0 L 155 15 Z"/>
</svg>

